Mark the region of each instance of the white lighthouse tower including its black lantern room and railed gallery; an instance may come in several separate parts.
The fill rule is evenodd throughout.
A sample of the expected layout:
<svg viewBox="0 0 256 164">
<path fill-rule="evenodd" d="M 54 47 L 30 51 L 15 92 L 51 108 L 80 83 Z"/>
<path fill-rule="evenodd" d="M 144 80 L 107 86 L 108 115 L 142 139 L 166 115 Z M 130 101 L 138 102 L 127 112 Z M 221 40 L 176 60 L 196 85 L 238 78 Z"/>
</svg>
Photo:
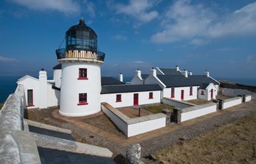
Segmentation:
<svg viewBox="0 0 256 164">
<path fill-rule="evenodd" d="M 61 63 L 59 113 L 78 117 L 100 111 L 100 66 L 105 53 L 99 52 L 97 34 L 83 18 L 66 32 L 66 47 L 56 50 Z"/>
</svg>

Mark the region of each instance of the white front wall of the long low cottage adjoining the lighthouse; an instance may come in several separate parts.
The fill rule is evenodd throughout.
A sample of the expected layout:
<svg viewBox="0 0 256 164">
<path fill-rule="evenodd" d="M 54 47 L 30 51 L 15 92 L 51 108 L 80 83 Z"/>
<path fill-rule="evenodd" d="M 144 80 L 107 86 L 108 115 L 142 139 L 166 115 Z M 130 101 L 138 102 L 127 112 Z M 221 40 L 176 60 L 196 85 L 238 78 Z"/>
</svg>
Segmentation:
<svg viewBox="0 0 256 164">
<path fill-rule="evenodd" d="M 153 93 L 153 98 L 149 99 L 149 93 Z M 145 91 L 145 92 L 136 92 L 139 94 L 139 105 L 143 104 L 155 104 L 161 102 L 161 91 Z M 116 102 L 116 95 L 121 94 L 121 102 Z M 101 102 L 106 102 L 111 106 L 118 108 L 123 106 L 133 106 L 133 94 L 134 93 L 109 93 L 102 94 Z"/>
</svg>

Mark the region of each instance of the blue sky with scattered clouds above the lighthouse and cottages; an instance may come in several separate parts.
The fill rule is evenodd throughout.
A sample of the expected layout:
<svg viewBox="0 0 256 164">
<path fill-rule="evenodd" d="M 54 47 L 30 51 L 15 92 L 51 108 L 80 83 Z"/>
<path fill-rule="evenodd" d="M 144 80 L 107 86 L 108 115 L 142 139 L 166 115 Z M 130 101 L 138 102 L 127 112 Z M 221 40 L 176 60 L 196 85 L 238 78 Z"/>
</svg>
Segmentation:
<svg viewBox="0 0 256 164">
<path fill-rule="evenodd" d="M 67 29 L 84 17 L 106 53 L 102 75 L 154 66 L 256 79 L 256 1 L 8 0 L 0 2 L 0 75 L 49 74 Z"/>
</svg>

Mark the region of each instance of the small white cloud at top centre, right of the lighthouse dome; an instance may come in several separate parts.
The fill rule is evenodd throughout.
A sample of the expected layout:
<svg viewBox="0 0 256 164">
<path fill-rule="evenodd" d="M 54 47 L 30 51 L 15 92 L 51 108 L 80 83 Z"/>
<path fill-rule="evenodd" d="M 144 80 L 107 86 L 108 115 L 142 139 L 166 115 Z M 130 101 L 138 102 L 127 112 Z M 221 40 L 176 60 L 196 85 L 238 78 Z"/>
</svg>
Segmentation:
<svg viewBox="0 0 256 164">
<path fill-rule="evenodd" d="M 151 10 L 157 2 L 152 0 L 129 0 L 129 4 L 115 4 L 114 8 L 118 14 L 129 15 L 141 23 L 147 23 L 159 15 L 156 10 Z"/>
</svg>

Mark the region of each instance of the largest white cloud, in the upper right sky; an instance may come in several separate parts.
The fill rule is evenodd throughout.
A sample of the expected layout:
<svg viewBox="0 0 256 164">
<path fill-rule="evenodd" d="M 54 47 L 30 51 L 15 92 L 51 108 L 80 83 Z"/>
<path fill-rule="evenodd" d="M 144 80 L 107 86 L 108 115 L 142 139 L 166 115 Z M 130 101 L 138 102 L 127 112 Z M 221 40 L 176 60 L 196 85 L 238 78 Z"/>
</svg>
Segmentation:
<svg viewBox="0 0 256 164">
<path fill-rule="evenodd" d="M 256 2 L 221 17 L 202 4 L 179 0 L 165 12 L 161 23 L 163 30 L 152 35 L 151 42 L 178 42 L 186 39 L 192 44 L 201 44 L 203 39 L 256 34 L 255 20 Z"/>
</svg>

